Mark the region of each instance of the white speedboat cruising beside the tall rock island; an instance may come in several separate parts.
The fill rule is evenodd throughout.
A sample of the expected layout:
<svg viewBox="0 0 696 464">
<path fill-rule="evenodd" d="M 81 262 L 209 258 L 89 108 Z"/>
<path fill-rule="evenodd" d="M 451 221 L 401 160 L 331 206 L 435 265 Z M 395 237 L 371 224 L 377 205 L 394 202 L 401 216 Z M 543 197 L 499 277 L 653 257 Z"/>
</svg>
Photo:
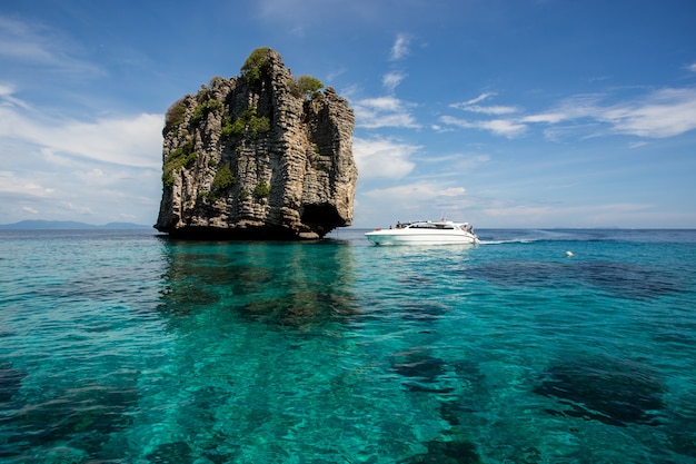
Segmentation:
<svg viewBox="0 0 696 464">
<path fill-rule="evenodd" d="M 468 223 L 453 223 L 451 220 L 421 220 L 410 224 L 398 224 L 388 229 L 375 229 L 365 236 L 377 245 L 478 245 L 479 240 L 474 228 Z"/>
</svg>

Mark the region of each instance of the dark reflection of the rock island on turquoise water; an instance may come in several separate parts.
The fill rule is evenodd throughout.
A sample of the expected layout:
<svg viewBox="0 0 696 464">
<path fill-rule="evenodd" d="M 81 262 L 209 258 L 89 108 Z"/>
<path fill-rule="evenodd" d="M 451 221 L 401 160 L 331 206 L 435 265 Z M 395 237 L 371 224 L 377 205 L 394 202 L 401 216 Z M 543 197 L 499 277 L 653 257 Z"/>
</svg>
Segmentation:
<svg viewBox="0 0 696 464">
<path fill-rule="evenodd" d="M 321 243 L 171 240 L 160 309 L 216 306 L 270 327 L 311 330 L 356 314 L 350 248 Z"/>
</svg>

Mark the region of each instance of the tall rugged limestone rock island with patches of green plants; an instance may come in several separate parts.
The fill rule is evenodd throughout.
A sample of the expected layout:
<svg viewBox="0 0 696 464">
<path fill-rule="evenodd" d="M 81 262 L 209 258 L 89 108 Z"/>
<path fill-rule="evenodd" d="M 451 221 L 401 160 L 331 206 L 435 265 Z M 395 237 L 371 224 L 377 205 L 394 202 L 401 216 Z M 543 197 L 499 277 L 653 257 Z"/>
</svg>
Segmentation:
<svg viewBox="0 0 696 464">
<path fill-rule="evenodd" d="M 319 238 L 352 224 L 355 118 L 257 49 L 167 111 L 156 228 L 192 238 Z"/>
</svg>

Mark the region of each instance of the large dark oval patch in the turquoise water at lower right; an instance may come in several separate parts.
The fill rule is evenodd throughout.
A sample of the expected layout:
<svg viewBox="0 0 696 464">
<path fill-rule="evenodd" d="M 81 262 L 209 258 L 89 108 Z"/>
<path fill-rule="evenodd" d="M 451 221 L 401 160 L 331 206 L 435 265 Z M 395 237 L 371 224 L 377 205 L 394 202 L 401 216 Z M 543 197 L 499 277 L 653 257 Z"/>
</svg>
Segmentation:
<svg viewBox="0 0 696 464">
<path fill-rule="evenodd" d="M 557 399 L 547 413 L 580 417 L 625 427 L 628 424 L 660 425 L 659 412 L 667 391 L 657 373 L 637 362 L 593 358 L 551 365 L 533 389 Z"/>
</svg>

